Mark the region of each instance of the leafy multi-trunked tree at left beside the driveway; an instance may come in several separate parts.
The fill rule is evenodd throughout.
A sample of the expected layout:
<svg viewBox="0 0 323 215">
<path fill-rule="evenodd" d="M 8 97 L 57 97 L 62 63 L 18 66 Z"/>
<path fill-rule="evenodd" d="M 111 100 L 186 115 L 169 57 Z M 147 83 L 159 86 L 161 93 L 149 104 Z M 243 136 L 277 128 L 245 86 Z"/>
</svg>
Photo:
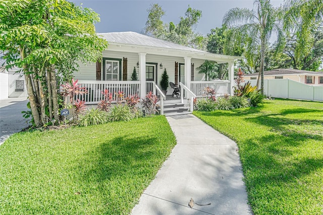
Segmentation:
<svg viewBox="0 0 323 215">
<path fill-rule="evenodd" d="M 70 79 L 76 61 L 101 59 L 107 43 L 95 33 L 98 21 L 65 0 L 2 0 L 0 50 L 7 68 L 22 68 L 35 126 L 59 121 L 57 79 Z"/>
</svg>

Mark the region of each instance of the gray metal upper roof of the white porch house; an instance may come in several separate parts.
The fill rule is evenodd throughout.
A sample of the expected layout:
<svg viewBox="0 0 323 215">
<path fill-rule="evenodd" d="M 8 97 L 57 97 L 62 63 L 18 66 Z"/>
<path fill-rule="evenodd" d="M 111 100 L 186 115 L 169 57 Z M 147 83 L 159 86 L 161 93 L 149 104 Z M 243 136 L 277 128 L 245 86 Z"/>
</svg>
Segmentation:
<svg viewBox="0 0 323 215">
<path fill-rule="evenodd" d="M 97 35 L 101 35 L 108 42 L 117 42 L 117 43 L 132 44 L 132 45 L 144 45 L 144 46 L 152 46 L 152 47 L 160 47 L 160 48 L 172 48 L 172 49 L 209 53 L 207 51 L 186 47 L 184 45 L 179 45 L 179 44 L 164 41 L 161 39 L 156 39 L 150 36 L 146 36 L 146 35 L 139 34 L 136 32 L 131 32 L 131 31 L 98 33 Z"/>
</svg>

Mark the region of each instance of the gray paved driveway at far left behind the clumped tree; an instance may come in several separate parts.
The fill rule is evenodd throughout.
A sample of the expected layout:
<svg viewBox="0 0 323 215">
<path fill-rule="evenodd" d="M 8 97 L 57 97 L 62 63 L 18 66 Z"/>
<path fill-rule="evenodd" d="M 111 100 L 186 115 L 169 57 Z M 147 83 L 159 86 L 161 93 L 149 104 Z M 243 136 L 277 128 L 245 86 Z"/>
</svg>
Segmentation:
<svg viewBox="0 0 323 215">
<path fill-rule="evenodd" d="M 0 100 L 0 145 L 13 133 L 27 128 L 27 120 L 21 112 L 27 111 L 28 99 L 8 98 Z"/>
</svg>

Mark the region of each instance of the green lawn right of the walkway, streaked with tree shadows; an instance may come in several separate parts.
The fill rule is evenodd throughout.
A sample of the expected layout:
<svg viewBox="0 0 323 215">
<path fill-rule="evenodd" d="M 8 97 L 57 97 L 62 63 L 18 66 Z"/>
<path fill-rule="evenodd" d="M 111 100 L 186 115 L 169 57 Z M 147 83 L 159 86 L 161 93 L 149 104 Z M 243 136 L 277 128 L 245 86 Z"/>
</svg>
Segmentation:
<svg viewBox="0 0 323 215">
<path fill-rule="evenodd" d="M 255 214 L 323 214 L 323 102 L 194 114 L 237 142 Z"/>
</svg>

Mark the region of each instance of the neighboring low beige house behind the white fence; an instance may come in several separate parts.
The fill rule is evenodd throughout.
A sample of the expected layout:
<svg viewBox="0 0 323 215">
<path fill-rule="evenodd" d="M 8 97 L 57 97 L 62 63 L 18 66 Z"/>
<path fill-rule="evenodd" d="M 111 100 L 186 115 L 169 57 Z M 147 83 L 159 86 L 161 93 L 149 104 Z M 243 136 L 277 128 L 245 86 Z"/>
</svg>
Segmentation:
<svg viewBox="0 0 323 215">
<path fill-rule="evenodd" d="M 258 73 L 244 75 L 245 80 L 257 80 Z M 300 83 L 322 86 L 323 85 L 323 72 L 313 72 L 306 70 L 294 69 L 276 69 L 265 71 L 263 79 L 290 79 Z"/>
</svg>

